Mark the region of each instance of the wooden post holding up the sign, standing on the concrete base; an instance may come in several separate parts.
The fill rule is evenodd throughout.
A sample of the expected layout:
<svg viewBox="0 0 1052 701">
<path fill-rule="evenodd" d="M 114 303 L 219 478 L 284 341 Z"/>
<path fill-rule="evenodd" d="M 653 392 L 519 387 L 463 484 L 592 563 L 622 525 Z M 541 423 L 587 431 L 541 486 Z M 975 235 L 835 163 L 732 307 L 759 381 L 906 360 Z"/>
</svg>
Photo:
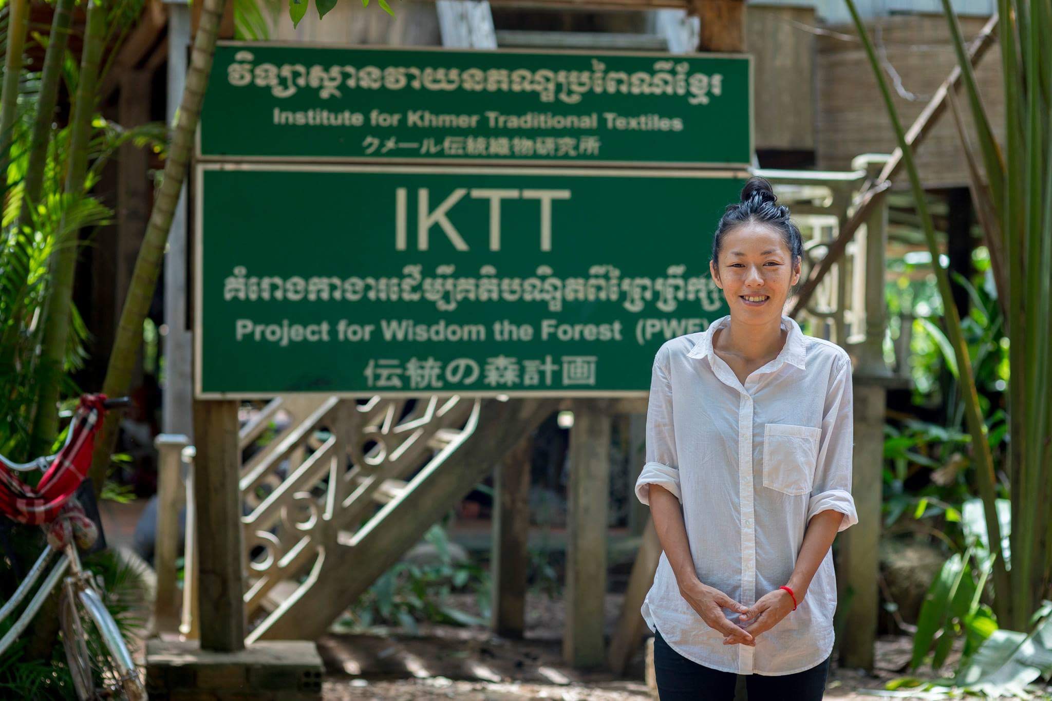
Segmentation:
<svg viewBox="0 0 1052 701">
<path fill-rule="evenodd" d="M 238 476 L 238 403 L 195 401 L 194 495 L 199 539 L 201 650 L 245 647 L 244 548 Z"/>
</svg>

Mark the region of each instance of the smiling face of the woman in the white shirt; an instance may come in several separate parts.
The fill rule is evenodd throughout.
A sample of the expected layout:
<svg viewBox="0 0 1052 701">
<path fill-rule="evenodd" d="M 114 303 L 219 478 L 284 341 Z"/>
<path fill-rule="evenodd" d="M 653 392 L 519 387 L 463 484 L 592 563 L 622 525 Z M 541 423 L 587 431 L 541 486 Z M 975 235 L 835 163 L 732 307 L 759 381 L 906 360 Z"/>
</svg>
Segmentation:
<svg viewBox="0 0 1052 701">
<path fill-rule="evenodd" d="M 709 263 L 733 317 L 749 324 L 781 319 L 789 289 L 800 280 L 800 262 L 777 229 L 743 224 L 723 236 L 720 260 Z"/>
</svg>

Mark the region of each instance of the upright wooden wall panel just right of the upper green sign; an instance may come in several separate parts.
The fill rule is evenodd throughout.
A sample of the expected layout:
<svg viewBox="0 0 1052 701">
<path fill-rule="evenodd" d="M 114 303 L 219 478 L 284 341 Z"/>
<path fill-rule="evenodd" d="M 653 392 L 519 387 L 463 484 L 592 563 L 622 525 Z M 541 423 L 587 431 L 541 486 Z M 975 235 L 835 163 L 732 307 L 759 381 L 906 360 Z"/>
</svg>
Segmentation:
<svg viewBox="0 0 1052 701">
<path fill-rule="evenodd" d="M 814 148 L 815 35 L 811 7 L 757 6 L 745 13 L 754 71 L 756 148 Z"/>
</svg>

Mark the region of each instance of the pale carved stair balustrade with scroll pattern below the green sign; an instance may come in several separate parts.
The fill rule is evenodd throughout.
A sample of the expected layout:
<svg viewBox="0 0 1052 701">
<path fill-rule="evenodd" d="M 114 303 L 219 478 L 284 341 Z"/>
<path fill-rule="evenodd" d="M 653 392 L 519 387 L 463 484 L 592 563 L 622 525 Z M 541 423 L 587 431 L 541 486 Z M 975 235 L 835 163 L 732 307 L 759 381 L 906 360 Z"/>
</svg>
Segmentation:
<svg viewBox="0 0 1052 701">
<path fill-rule="evenodd" d="M 326 566 L 379 525 L 383 514 L 378 512 L 401 494 L 406 480 L 441 462 L 471 435 L 479 406 L 478 400 L 439 395 L 367 401 L 290 396 L 258 411 L 243 409 L 251 412 L 240 431 L 247 455 L 240 479 L 248 573 L 244 601 L 255 636 L 319 582 L 329 583 Z M 255 449 L 260 438 L 265 442 Z M 171 445 L 177 450 L 182 446 Z M 164 487 L 184 488 L 178 480 Z M 177 501 L 162 495 L 162 503 Z M 193 534 L 193 509 L 187 511 L 186 532 Z M 167 542 L 171 536 L 159 533 L 158 539 Z M 186 603 L 194 600 L 196 577 L 193 538 L 187 540 L 191 574 L 184 578 L 188 589 L 182 631 L 193 635 Z M 168 599 L 170 595 L 163 597 Z M 170 616 L 164 617 L 164 624 L 168 621 Z"/>
</svg>

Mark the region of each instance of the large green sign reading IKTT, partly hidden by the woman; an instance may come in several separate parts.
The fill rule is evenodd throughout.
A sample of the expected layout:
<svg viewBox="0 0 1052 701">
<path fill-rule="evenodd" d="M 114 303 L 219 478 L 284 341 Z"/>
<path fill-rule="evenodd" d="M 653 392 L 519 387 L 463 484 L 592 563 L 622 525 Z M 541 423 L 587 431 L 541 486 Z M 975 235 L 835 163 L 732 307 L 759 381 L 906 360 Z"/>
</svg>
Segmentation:
<svg viewBox="0 0 1052 701">
<path fill-rule="evenodd" d="M 644 396 L 745 174 L 203 164 L 199 397 Z"/>
</svg>

